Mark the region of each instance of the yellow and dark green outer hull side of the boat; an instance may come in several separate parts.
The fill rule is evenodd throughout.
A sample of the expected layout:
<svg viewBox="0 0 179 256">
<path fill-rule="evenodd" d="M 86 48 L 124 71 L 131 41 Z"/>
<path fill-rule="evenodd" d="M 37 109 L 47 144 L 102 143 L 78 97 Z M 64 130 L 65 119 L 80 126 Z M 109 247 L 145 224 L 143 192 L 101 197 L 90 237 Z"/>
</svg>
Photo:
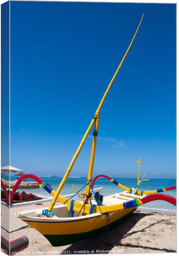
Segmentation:
<svg viewBox="0 0 179 256">
<path fill-rule="evenodd" d="M 109 218 L 105 214 L 92 214 L 84 219 L 68 221 L 25 221 L 27 224 L 38 230 L 52 246 L 62 246 L 72 244 L 96 233 L 107 230 L 119 222 L 123 221 L 136 210 L 136 207 L 130 209 L 120 209 L 109 212 Z M 108 221 L 109 220 L 109 221 Z"/>
</svg>

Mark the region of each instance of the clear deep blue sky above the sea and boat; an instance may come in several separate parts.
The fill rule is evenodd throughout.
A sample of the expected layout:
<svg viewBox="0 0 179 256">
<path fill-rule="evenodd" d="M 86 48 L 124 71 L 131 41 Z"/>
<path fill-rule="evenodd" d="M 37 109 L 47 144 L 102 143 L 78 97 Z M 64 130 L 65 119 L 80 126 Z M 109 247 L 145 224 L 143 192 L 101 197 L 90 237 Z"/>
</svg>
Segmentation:
<svg viewBox="0 0 179 256">
<path fill-rule="evenodd" d="M 94 175 L 175 178 L 176 6 L 11 2 L 11 165 L 63 176 L 101 109 Z M 87 174 L 92 132 L 70 176 Z"/>
</svg>

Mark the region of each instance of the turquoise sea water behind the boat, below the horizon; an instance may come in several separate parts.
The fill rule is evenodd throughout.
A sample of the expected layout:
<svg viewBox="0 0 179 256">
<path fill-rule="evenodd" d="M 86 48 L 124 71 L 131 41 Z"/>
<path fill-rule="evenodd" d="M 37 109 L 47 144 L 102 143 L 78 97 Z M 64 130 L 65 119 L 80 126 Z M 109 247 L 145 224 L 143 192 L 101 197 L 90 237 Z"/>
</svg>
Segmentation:
<svg viewBox="0 0 179 256">
<path fill-rule="evenodd" d="M 8 179 L 8 176 L 3 175 L 4 179 Z M 53 189 L 58 188 L 58 184 L 61 182 L 62 177 L 40 177 L 43 181 L 48 183 Z M 123 184 L 124 186 L 135 188 L 136 187 L 136 178 L 118 178 L 113 177 L 115 180 L 117 180 L 119 183 Z M 15 180 L 16 177 L 12 176 L 12 180 Z M 30 179 L 28 179 L 30 180 Z M 62 189 L 61 194 L 62 195 L 68 195 L 75 193 L 75 190 L 72 187 L 72 184 L 75 185 L 77 189 L 81 189 L 82 186 L 86 183 L 87 178 L 84 177 L 69 177 L 66 181 L 66 184 L 64 188 Z M 176 186 L 176 180 L 175 179 L 150 179 L 149 181 L 144 181 L 141 183 L 139 189 L 140 190 L 155 190 L 160 189 L 162 187 L 170 187 L 170 186 Z M 107 180 L 105 178 L 98 178 L 95 181 L 94 188 L 102 187 L 101 194 L 106 195 L 112 195 L 114 193 L 118 193 L 123 191 L 120 187 L 116 186 L 114 183 L 110 182 L 110 180 Z M 44 195 L 44 196 L 51 196 L 49 195 L 43 188 L 39 189 L 23 189 L 27 193 L 32 192 L 35 195 Z M 22 189 L 18 189 L 18 191 L 22 191 Z M 170 190 L 167 192 L 163 192 L 163 194 L 171 195 L 176 198 L 176 190 Z M 140 207 L 141 209 L 148 209 L 148 210 L 157 210 L 157 211 L 167 211 L 167 212 L 176 212 L 176 207 L 172 204 L 169 204 L 165 201 L 153 201 L 150 203 L 145 204 L 144 206 Z"/>
</svg>

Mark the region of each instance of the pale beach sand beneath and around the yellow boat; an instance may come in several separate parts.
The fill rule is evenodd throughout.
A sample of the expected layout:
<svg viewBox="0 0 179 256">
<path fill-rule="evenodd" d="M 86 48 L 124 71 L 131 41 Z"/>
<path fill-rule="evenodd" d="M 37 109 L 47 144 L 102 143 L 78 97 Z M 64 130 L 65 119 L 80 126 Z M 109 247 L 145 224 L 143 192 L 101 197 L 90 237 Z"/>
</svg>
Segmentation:
<svg viewBox="0 0 179 256">
<path fill-rule="evenodd" d="M 33 208 L 46 207 L 48 204 L 34 205 Z M 25 209 L 26 207 L 11 209 L 11 241 L 20 236 L 27 236 L 29 239 L 29 246 L 20 255 L 176 252 L 176 215 L 173 214 L 136 211 L 110 232 L 106 231 L 75 244 L 52 247 L 38 231 L 15 217 L 16 211 Z M 2 235 L 7 236 L 5 229 L 2 229 Z"/>
</svg>

